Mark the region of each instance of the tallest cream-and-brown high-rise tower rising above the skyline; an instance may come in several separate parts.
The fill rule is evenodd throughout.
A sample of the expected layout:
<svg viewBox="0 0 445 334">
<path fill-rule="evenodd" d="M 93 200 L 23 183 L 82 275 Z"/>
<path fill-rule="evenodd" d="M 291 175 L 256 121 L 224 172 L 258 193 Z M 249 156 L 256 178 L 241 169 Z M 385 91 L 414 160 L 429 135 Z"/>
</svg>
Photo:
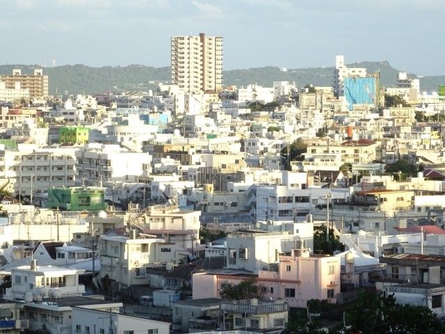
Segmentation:
<svg viewBox="0 0 445 334">
<path fill-rule="evenodd" d="M 185 93 L 218 90 L 223 86 L 223 38 L 172 37 L 172 83 Z"/>
</svg>

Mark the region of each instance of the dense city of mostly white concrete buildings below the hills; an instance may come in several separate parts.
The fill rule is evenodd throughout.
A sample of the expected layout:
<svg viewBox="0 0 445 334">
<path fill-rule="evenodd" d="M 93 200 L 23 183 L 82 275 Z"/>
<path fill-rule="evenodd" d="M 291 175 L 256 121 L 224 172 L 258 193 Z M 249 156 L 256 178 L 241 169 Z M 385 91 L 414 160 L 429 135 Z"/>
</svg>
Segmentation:
<svg viewBox="0 0 445 334">
<path fill-rule="evenodd" d="M 0 72 L 1 333 L 445 333 L 445 82 L 227 85 L 226 40 L 142 90 Z"/>
</svg>

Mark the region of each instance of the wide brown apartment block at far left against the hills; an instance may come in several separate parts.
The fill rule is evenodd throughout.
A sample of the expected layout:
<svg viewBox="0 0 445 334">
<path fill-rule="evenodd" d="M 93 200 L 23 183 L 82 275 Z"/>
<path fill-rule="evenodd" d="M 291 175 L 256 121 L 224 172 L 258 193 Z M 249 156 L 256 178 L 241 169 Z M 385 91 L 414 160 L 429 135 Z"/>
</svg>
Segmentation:
<svg viewBox="0 0 445 334">
<path fill-rule="evenodd" d="M 1 75 L 0 81 L 6 89 L 14 89 L 19 83 L 20 88 L 29 90 L 31 100 L 48 96 L 48 76 L 43 75 L 41 68 L 35 69 L 34 74 L 22 74 L 22 70 L 14 69 L 12 75 Z"/>
</svg>

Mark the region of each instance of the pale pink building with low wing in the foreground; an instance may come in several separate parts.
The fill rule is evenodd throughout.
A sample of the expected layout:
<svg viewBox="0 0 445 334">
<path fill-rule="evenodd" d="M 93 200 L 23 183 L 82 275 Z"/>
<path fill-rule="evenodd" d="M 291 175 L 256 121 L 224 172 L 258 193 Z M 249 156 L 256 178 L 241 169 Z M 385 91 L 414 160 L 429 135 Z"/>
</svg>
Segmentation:
<svg viewBox="0 0 445 334">
<path fill-rule="evenodd" d="M 337 301 L 340 293 L 340 258 L 330 255 L 310 255 L 308 250 L 293 249 L 292 255 L 280 256 L 275 270 L 245 275 L 202 272 L 193 274 L 193 299 L 219 298 L 221 283 L 236 285 L 241 280 L 257 277 L 266 298 L 282 299 L 289 306 L 305 308 L 310 299 Z M 277 268 L 276 268 L 277 267 Z"/>
</svg>

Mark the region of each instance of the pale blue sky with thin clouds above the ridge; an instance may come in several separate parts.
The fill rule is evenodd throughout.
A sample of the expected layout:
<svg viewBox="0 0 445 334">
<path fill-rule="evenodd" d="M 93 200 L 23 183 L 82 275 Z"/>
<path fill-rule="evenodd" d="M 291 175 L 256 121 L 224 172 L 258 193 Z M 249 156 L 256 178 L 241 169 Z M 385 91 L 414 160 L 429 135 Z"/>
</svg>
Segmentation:
<svg viewBox="0 0 445 334">
<path fill-rule="evenodd" d="M 389 61 L 445 74 L 444 0 L 0 0 L 0 64 L 170 65 L 173 35 L 220 35 L 224 69 Z"/>
</svg>

